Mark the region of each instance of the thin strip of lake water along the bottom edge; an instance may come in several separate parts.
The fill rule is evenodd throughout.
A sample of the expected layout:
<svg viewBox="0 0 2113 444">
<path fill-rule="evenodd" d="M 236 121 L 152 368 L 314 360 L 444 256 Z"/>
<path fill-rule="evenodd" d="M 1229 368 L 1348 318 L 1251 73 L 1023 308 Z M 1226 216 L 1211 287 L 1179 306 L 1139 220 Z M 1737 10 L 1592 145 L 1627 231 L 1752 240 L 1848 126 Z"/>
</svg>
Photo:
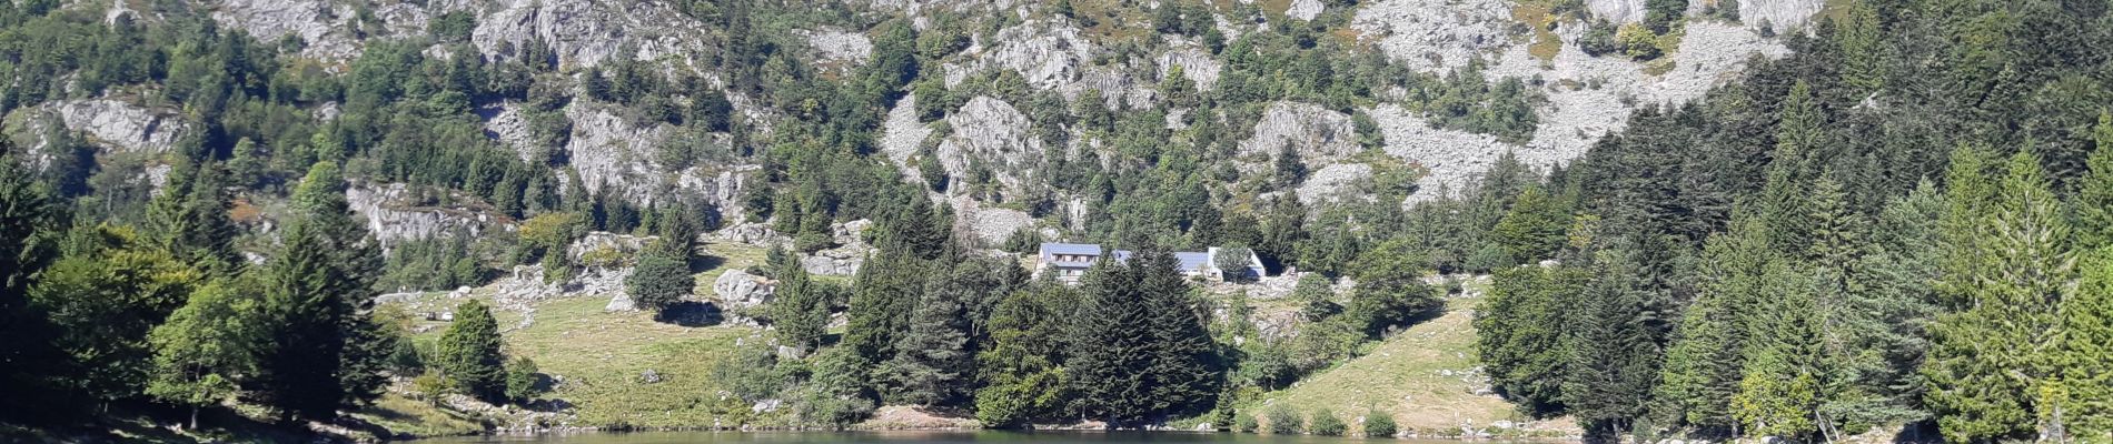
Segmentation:
<svg viewBox="0 0 2113 444">
<path fill-rule="evenodd" d="M 638 431 L 433 438 L 418 444 L 1458 444 L 1202 431 Z"/>
</svg>

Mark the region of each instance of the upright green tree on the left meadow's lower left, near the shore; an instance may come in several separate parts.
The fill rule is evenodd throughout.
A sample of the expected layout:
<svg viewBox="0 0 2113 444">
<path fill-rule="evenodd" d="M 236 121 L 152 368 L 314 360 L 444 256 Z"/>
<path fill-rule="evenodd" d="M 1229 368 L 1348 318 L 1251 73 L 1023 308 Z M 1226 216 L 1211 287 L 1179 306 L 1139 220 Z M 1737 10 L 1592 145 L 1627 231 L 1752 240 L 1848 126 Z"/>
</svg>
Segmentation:
<svg viewBox="0 0 2113 444">
<path fill-rule="evenodd" d="M 471 299 L 454 305 L 454 324 L 440 335 L 440 372 L 448 383 L 486 402 L 505 400 L 505 356 L 492 309 Z"/>
</svg>

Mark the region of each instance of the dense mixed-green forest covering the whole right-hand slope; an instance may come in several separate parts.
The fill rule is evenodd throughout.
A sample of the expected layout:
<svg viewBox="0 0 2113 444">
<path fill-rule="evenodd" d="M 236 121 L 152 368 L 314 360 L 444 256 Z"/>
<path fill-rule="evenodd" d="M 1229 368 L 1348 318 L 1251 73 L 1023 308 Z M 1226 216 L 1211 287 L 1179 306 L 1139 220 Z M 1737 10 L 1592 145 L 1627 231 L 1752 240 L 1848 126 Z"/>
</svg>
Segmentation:
<svg viewBox="0 0 2113 444">
<path fill-rule="evenodd" d="M 1593 436 L 2109 438 L 2113 116 L 2079 82 L 2107 76 L 2105 23 L 1851 2 L 1792 57 L 1640 112 L 1534 179 L 1566 210 L 1517 194 L 1498 223 L 1540 227 L 1515 253 L 1549 261 L 1496 269 L 1492 385 Z"/>
</svg>

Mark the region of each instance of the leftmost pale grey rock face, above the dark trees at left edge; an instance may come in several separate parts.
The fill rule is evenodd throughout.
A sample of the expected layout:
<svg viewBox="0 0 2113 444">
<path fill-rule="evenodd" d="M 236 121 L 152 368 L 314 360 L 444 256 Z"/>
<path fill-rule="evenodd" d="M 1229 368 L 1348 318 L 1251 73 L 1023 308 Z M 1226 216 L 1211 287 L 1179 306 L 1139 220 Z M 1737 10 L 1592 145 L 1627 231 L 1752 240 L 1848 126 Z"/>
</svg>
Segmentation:
<svg viewBox="0 0 2113 444">
<path fill-rule="evenodd" d="M 165 154 L 175 139 L 190 130 L 173 112 L 137 107 L 116 99 L 51 101 L 44 103 L 66 122 L 66 128 L 85 130 L 91 141 L 129 154 Z"/>
</svg>

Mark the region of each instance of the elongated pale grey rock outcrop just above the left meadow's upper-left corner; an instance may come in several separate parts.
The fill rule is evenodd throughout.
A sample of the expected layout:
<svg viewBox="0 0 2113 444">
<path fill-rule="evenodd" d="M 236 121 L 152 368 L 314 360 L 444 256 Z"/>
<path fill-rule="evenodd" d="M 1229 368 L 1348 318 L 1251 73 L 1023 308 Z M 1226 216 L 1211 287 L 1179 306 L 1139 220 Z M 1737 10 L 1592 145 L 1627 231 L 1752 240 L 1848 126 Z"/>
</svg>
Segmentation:
<svg viewBox="0 0 2113 444">
<path fill-rule="evenodd" d="M 503 215 L 467 206 L 423 206 L 414 202 L 404 183 L 370 185 L 355 183 L 344 189 L 344 202 L 353 213 L 368 219 L 368 231 L 389 248 L 404 240 L 429 240 L 437 236 L 482 236 L 488 231 L 513 231 L 516 225 Z"/>
</svg>

